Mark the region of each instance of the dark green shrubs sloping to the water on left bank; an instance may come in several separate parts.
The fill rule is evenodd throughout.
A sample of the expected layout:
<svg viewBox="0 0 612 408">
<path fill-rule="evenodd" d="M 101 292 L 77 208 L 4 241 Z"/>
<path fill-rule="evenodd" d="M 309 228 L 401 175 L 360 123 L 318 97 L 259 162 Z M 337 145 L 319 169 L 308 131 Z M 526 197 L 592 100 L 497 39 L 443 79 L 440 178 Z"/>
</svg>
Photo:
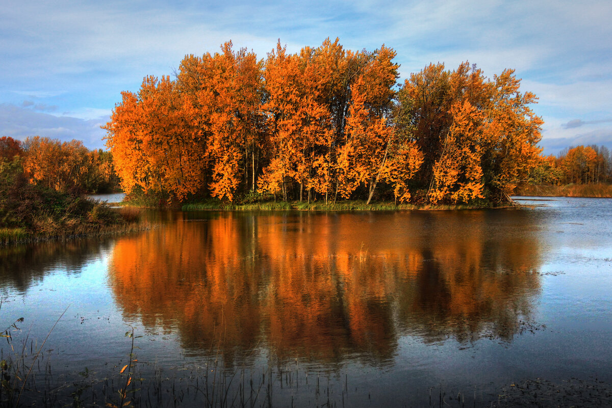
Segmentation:
<svg viewBox="0 0 612 408">
<path fill-rule="evenodd" d="M 113 209 L 75 191 L 29 183 L 21 158 L 0 158 L 0 244 L 125 233 L 142 228 L 138 209 Z"/>
</svg>

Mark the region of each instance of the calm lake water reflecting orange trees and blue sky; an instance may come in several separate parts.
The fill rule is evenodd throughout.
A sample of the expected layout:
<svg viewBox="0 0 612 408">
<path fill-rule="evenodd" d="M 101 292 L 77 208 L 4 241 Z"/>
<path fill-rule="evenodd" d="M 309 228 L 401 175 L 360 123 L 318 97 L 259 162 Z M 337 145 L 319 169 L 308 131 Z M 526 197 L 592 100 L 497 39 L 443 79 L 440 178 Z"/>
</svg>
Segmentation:
<svg viewBox="0 0 612 408">
<path fill-rule="evenodd" d="M 121 365 L 133 327 L 144 371 L 293 370 L 274 401 L 300 406 L 328 397 L 315 381 L 338 406 L 612 382 L 612 200 L 521 202 L 534 206 L 150 213 L 159 227 L 136 235 L 0 249 L 0 322 L 23 316 L 13 341 L 40 344 L 68 307 L 45 344 L 60 377 Z"/>
</svg>

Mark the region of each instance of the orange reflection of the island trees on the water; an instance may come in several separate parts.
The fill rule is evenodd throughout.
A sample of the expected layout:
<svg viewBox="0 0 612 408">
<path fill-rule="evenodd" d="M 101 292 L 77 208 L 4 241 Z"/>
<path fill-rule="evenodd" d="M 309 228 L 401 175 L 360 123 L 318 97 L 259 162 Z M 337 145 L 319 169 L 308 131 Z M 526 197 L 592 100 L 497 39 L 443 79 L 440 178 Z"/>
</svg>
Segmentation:
<svg viewBox="0 0 612 408">
<path fill-rule="evenodd" d="M 401 335 L 510 341 L 531 318 L 541 263 L 534 214 L 172 213 L 118 239 L 110 282 L 126 319 L 178 330 L 226 362 L 384 364 Z"/>
</svg>

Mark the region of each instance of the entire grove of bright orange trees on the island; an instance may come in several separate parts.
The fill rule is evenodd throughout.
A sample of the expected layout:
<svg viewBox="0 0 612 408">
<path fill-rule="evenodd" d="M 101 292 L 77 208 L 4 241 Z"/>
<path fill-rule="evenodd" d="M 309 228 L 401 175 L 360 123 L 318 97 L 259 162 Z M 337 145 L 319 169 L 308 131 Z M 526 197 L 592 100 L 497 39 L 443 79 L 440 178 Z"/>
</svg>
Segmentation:
<svg viewBox="0 0 612 408">
<path fill-rule="evenodd" d="M 265 60 L 231 42 L 122 92 L 105 126 L 124 191 L 170 201 L 499 202 L 541 167 L 537 98 L 505 70 L 431 64 L 396 88 L 393 49 L 338 40 Z"/>
</svg>

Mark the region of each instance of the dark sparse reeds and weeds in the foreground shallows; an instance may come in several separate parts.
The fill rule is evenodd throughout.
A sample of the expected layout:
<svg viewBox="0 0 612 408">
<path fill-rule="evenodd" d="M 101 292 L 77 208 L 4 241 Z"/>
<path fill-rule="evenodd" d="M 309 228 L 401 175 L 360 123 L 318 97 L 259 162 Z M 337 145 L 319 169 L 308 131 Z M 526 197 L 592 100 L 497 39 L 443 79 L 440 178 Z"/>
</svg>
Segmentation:
<svg viewBox="0 0 612 408">
<path fill-rule="evenodd" d="M 58 359 L 61 354 L 53 355 L 53 364 L 60 366 L 58 371 L 52 365 L 50 351 L 41 352 L 46 339 L 40 346 L 33 346 L 35 340 L 29 339 L 29 335 L 21 340 L 23 344 L 18 344 L 17 336 L 13 338 L 23 321 L 23 318 L 17 319 L 2 334 L 7 344 L 2 347 L 0 361 L 0 407 L 348 407 L 354 401 L 367 400 L 371 406 L 382 406 L 379 398 L 389 400 L 389 396 L 380 395 L 376 388 L 354 387 L 346 373 L 316 370 L 312 363 L 302 365 L 297 359 L 252 368 L 244 364 L 225 366 L 217 351 L 200 365 L 165 369 L 138 358 L 135 352 L 140 348 L 135 340 L 140 336 L 132 328 L 125 333 L 129 343 L 123 352 L 119 351 L 124 354 L 123 358 L 105 363 L 101 370 L 84 368 L 79 373 L 62 373 L 62 362 Z M 523 379 L 501 390 L 490 388 L 483 392 L 468 387 L 465 391 L 432 385 L 398 390 L 392 401 L 398 406 L 430 408 L 569 406 L 570 403 L 586 407 L 607 406 L 606 401 L 612 398 L 610 385 L 597 379 L 573 378 L 561 383 Z"/>
</svg>

